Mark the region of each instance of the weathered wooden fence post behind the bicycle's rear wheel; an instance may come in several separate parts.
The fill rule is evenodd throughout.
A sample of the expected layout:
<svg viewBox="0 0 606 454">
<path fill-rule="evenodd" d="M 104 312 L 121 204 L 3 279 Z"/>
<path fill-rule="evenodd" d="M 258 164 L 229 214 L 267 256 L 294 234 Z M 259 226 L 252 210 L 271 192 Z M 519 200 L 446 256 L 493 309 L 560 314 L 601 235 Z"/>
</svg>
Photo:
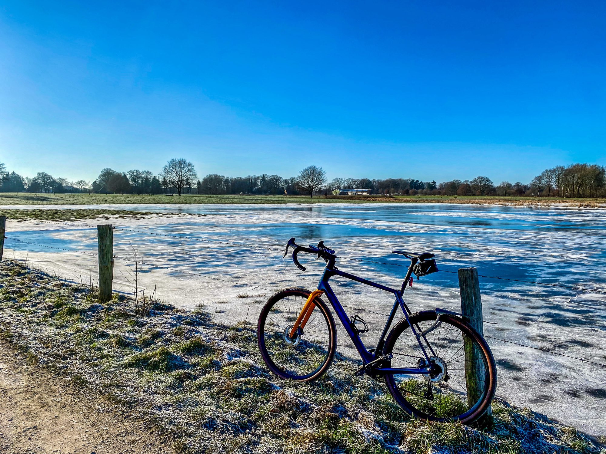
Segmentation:
<svg viewBox="0 0 606 454">
<path fill-rule="evenodd" d="M 482 317 L 482 297 L 478 268 L 459 268 L 459 289 L 461 290 L 461 314 L 481 336 L 484 336 Z M 467 400 L 470 405 L 478 401 L 486 381 L 486 371 L 481 352 L 474 347 L 471 340 L 464 338 L 465 345 L 465 382 L 467 384 Z M 488 407 L 484 415 L 492 415 Z"/>
</svg>

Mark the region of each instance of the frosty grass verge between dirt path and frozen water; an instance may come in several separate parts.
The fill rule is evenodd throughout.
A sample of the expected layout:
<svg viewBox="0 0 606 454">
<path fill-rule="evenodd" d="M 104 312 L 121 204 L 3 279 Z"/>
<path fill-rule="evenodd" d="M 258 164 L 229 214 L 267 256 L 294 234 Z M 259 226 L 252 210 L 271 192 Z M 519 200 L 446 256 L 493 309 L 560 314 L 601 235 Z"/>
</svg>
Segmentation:
<svg viewBox="0 0 606 454">
<path fill-rule="evenodd" d="M 0 266 L 0 338 L 173 439 L 176 452 L 599 452 L 574 429 L 493 405 L 490 429 L 408 418 L 381 382 L 338 358 L 314 383 L 276 380 L 250 324 L 155 301 L 101 304 L 15 262 Z M 604 451 L 602 451 L 604 452 Z"/>
</svg>

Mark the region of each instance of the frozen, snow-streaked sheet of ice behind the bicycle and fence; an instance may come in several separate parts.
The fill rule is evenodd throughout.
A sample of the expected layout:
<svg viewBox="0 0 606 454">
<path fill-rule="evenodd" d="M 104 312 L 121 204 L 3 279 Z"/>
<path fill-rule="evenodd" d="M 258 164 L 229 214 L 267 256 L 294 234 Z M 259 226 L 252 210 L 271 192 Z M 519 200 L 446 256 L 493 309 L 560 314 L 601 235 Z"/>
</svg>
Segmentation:
<svg viewBox="0 0 606 454">
<path fill-rule="evenodd" d="M 10 207 L 10 208 L 15 208 Z M 32 209 L 32 206 L 23 208 Z M 436 254 L 442 271 L 416 281 L 407 291 L 413 310 L 459 309 L 460 267 L 479 274 L 546 284 L 579 286 L 590 291 L 481 277 L 484 324 L 499 367 L 498 395 L 518 405 L 571 424 L 592 435 L 606 434 L 606 367 L 536 349 L 505 339 L 554 350 L 570 357 L 606 364 L 606 211 L 568 207 L 494 205 L 123 205 L 41 206 L 40 208 L 112 208 L 180 212 L 182 217 L 114 220 L 115 254 L 128 258 L 134 247 L 142 272 L 139 289 L 179 306 L 207 304 L 217 318 L 255 321 L 271 292 L 291 285 L 313 289 L 323 262 L 310 255 L 299 272 L 281 258 L 285 242 L 325 243 L 336 249 L 338 266 L 371 280 L 399 287 L 407 265 L 392 249 Z M 187 214 L 207 214 L 193 217 Z M 104 221 L 107 222 L 107 221 Z M 9 237 L 55 248 L 96 252 L 95 222 L 10 223 Z M 18 232 L 15 232 L 18 231 Z M 198 240 L 185 239 L 183 237 Z M 226 245 L 232 242 L 246 246 Z M 8 239 L 5 255 L 32 266 L 58 270 L 76 281 L 96 279 L 96 257 L 28 245 Z M 269 250 L 261 249 L 269 248 Z M 361 258 L 389 265 L 346 260 Z M 166 269 L 170 268 L 170 269 Z M 116 288 L 132 292 L 133 263 L 116 260 Z M 130 274 L 129 274 L 130 272 Z M 190 272 L 193 274 L 186 274 Z M 249 287 L 246 287 L 249 285 Z M 389 294 L 336 279 L 333 285 L 347 312 L 367 320 L 376 340 L 393 300 Z M 409 292 L 410 291 L 410 292 Z M 247 294 L 248 298 L 237 295 Z M 343 331 L 341 350 L 356 353 Z"/>
</svg>

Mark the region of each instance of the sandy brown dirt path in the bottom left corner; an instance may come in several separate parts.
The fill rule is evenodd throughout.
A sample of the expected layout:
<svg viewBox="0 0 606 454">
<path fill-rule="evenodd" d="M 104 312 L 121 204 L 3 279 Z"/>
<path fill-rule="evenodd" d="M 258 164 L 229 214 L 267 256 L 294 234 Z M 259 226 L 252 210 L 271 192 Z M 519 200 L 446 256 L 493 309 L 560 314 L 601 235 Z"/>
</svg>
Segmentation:
<svg viewBox="0 0 606 454">
<path fill-rule="evenodd" d="M 118 454 L 172 450 L 136 421 L 0 343 L 0 453 Z"/>
</svg>

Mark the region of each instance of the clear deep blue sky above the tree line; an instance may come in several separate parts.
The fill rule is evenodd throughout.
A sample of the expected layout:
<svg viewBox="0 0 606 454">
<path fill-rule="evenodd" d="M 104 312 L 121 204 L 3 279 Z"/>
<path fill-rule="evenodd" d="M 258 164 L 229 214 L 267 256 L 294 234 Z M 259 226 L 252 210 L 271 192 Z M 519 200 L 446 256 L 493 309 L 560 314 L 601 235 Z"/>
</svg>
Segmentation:
<svg viewBox="0 0 606 454">
<path fill-rule="evenodd" d="M 606 164 L 604 1 L 0 4 L 0 162 L 25 176 L 527 182 Z"/>
</svg>

